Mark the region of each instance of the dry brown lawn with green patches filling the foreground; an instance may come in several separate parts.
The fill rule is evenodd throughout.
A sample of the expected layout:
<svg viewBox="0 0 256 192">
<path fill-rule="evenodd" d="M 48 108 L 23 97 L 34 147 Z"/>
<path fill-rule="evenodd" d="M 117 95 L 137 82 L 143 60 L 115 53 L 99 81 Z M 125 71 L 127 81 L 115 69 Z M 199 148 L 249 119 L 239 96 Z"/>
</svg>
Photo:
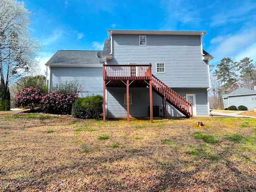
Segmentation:
<svg viewBox="0 0 256 192">
<path fill-rule="evenodd" d="M 3 192 L 256 191 L 255 119 L 6 114 L 0 136 Z"/>
</svg>

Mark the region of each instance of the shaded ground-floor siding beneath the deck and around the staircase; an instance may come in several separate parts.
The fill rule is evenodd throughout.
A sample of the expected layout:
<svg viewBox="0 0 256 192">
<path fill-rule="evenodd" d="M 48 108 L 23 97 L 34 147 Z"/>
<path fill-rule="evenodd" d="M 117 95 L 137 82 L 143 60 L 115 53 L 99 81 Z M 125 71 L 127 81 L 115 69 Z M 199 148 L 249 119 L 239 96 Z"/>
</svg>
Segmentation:
<svg viewBox="0 0 256 192">
<path fill-rule="evenodd" d="M 208 102 L 206 89 L 175 89 L 181 96 L 186 94 L 196 94 L 197 115 L 208 115 Z M 130 104 L 130 116 L 147 117 L 149 101 L 149 88 L 130 88 L 132 94 L 132 104 Z M 124 104 L 124 94 L 126 88 L 107 88 L 107 117 L 126 117 L 126 104 Z M 153 92 L 153 106 L 159 106 L 159 116 L 163 116 L 162 98 Z M 178 110 L 166 102 L 167 116 L 183 116 Z"/>
</svg>

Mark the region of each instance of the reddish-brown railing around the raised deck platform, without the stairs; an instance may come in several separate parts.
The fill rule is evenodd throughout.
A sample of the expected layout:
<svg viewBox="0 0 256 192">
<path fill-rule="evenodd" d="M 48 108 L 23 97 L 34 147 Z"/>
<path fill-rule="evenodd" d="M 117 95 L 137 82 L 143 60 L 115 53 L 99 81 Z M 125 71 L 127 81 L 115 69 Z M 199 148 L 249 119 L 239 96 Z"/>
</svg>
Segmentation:
<svg viewBox="0 0 256 192">
<path fill-rule="evenodd" d="M 103 80 L 150 80 L 152 79 L 151 64 L 149 65 L 108 65 L 103 64 Z"/>
</svg>

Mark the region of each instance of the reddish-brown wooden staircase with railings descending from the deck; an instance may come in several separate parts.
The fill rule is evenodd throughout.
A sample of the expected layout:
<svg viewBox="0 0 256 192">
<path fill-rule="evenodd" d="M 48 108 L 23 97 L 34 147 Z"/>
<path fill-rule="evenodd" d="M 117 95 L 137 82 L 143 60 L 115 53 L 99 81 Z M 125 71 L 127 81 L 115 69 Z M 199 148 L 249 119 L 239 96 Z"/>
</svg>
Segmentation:
<svg viewBox="0 0 256 192">
<path fill-rule="evenodd" d="M 152 74 L 152 89 L 186 117 L 193 116 L 192 104 Z"/>
</svg>

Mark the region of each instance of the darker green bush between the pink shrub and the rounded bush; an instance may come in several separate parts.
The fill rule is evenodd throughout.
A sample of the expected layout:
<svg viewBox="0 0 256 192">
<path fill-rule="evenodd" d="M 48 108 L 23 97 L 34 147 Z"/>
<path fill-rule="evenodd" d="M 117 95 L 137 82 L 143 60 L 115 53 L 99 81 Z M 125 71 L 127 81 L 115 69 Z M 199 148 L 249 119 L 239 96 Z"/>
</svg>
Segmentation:
<svg viewBox="0 0 256 192">
<path fill-rule="evenodd" d="M 82 106 L 84 98 L 78 98 L 72 105 L 71 115 L 75 118 L 87 119 L 90 118 L 86 108 Z"/>
</svg>

